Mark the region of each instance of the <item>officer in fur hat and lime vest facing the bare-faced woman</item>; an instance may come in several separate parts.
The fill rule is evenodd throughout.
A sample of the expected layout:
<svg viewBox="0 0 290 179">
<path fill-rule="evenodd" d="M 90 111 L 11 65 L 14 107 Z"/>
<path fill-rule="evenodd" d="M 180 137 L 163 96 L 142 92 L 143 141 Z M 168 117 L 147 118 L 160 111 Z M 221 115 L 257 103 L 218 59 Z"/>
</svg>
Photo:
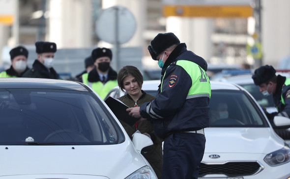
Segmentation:
<svg viewBox="0 0 290 179">
<path fill-rule="evenodd" d="M 186 49 L 174 33 L 159 33 L 148 46 L 162 68 L 158 94 L 128 108 L 129 115 L 153 122 L 164 139 L 162 179 L 197 179 L 209 126 L 210 82 L 206 61 Z"/>
</svg>

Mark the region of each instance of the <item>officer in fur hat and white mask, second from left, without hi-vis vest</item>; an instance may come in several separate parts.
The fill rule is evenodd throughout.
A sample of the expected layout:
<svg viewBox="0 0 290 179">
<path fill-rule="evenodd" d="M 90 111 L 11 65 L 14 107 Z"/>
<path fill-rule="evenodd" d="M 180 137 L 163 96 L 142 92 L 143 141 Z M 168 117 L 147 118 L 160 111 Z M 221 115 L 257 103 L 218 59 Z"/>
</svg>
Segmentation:
<svg viewBox="0 0 290 179">
<path fill-rule="evenodd" d="M 36 42 L 37 59 L 32 65 L 32 69 L 26 72 L 23 77 L 60 79 L 58 73 L 53 68 L 57 45 L 53 42 Z"/>
</svg>

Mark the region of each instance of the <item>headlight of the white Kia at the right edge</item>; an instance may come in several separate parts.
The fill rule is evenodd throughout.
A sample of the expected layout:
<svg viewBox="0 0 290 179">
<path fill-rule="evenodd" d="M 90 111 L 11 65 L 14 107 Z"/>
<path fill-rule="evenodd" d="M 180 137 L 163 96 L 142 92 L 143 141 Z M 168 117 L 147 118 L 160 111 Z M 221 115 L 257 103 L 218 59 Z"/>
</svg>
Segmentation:
<svg viewBox="0 0 290 179">
<path fill-rule="evenodd" d="M 290 148 L 285 145 L 282 149 L 269 153 L 265 156 L 264 161 L 270 166 L 282 165 L 290 161 Z"/>
</svg>

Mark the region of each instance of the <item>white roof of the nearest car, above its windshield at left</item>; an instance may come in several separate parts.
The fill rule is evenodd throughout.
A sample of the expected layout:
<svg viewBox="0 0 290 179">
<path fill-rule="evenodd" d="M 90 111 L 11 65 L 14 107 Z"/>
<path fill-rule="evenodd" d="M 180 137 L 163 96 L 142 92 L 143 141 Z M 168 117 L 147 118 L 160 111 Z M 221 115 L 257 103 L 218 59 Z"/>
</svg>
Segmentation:
<svg viewBox="0 0 290 179">
<path fill-rule="evenodd" d="M 46 79 L 46 78 L 24 78 L 24 77 L 3 77 L 0 78 L 0 89 L 26 88 L 26 89 L 60 89 L 88 91 L 80 82 Z"/>
</svg>

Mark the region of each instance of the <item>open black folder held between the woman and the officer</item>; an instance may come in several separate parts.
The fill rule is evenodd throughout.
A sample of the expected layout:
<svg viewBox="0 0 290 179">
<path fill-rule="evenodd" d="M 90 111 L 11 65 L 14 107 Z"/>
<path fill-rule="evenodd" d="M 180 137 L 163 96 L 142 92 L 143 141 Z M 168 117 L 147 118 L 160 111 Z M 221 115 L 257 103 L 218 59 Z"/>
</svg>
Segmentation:
<svg viewBox="0 0 290 179">
<path fill-rule="evenodd" d="M 105 100 L 105 102 L 118 118 L 118 120 L 121 120 L 130 126 L 133 126 L 139 120 L 138 118 L 129 116 L 129 112 L 126 111 L 126 109 L 129 107 L 123 102 L 110 96 Z"/>
</svg>

